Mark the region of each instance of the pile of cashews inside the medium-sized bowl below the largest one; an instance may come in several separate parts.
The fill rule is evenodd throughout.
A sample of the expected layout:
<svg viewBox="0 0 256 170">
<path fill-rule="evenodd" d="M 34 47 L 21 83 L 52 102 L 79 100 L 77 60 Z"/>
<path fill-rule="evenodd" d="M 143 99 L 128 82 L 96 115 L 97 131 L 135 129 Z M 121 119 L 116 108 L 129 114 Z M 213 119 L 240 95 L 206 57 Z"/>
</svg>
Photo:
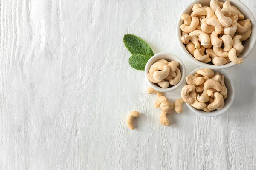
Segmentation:
<svg viewBox="0 0 256 170">
<path fill-rule="evenodd" d="M 196 71 L 195 75 L 187 76 L 186 82 L 181 90 L 184 102 L 206 112 L 224 107 L 224 99 L 227 98 L 224 75 L 204 68 Z"/>
</svg>

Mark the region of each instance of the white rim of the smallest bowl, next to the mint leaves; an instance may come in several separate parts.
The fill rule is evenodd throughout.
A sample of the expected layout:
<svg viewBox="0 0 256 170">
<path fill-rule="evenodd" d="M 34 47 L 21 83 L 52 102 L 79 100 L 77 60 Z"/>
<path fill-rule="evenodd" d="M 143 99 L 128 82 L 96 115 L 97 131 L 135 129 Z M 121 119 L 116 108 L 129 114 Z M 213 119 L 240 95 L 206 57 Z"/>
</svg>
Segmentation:
<svg viewBox="0 0 256 170">
<path fill-rule="evenodd" d="M 175 59 L 172 59 L 172 61 L 177 61 L 179 63 L 179 67 L 181 67 L 182 69 L 180 70 L 181 71 L 181 78 L 180 78 L 180 82 L 177 83 L 177 85 L 173 85 L 172 87 L 170 88 L 161 88 L 161 87 L 158 87 L 157 85 L 155 85 L 154 83 L 152 83 L 151 81 L 148 80 L 147 78 L 147 75 L 148 75 L 148 71 L 149 71 L 149 68 L 151 67 L 151 65 L 149 65 L 149 63 L 154 60 L 155 58 L 161 56 L 161 55 L 165 55 L 165 56 L 168 56 L 168 57 L 172 57 L 172 58 L 175 58 Z M 164 59 L 164 58 L 163 58 Z M 153 63 L 154 64 L 154 63 Z M 144 71 L 144 74 L 145 74 L 145 79 L 146 81 L 148 82 L 148 84 L 154 88 L 156 91 L 160 91 L 160 92 L 163 92 L 163 93 L 166 93 L 166 92 L 171 92 L 171 91 L 174 91 L 175 89 L 177 89 L 178 87 L 180 87 L 181 85 L 183 85 L 184 81 L 185 81 L 185 77 L 186 77 L 186 67 L 183 63 L 183 61 L 180 59 L 180 57 L 178 57 L 177 55 L 173 54 L 173 53 L 169 53 L 169 52 L 160 52 L 160 53 L 157 53 L 157 54 L 154 54 L 154 56 L 152 56 L 146 66 L 145 66 L 145 71 Z"/>
</svg>

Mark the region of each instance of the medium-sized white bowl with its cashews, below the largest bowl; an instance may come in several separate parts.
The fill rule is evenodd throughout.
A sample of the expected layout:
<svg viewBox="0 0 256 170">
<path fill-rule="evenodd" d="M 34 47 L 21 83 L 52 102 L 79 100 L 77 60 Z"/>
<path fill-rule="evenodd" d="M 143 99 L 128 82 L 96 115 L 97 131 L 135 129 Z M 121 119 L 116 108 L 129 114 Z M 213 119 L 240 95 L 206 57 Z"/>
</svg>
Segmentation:
<svg viewBox="0 0 256 170">
<path fill-rule="evenodd" d="M 230 108 L 235 91 L 233 82 L 224 71 L 198 68 L 186 77 L 181 96 L 192 111 L 212 117 Z"/>
</svg>

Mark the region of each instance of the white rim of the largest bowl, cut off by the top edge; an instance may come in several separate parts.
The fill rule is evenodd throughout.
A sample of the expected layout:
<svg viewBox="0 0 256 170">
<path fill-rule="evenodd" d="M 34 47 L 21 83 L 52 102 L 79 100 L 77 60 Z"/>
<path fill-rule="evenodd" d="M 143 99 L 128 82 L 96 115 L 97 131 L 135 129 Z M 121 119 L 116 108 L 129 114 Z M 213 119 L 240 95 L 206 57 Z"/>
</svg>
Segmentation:
<svg viewBox="0 0 256 170">
<path fill-rule="evenodd" d="M 189 51 L 187 51 L 185 45 L 183 44 L 183 42 L 181 41 L 181 30 L 180 30 L 180 26 L 182 24 L 182 20 L 181 20 L 181 15 L 185 13 L 186 10 L 188 10 L 189 8 L 191 8 L 191 6 L 195 3 L 200 3 L 202 2 L 203 0 L 193 0 L 191 3 L 189 3 L 188 6 L 186 6 L 186 8 L 184 8 L 184 10 L 182 11 L 182 13 L 180 14 L 180 17 L 177 21 L 177 39 L 178 39 L 178 42 L 179 42 L 179 45 L 183 51 L 183 53 L 185 53 L 186 57 L 188 57 L 192 62 L 194 62 L 195 64 L 201 66 L 201 67 L 204 67 L 204 68 L 210 68 L 210 69 L 214 69 L 214 70 L 219 70 L 219 69 L 225 69 L 225 68 L 230 68 L 234 65 L 236 65 L 235 63 L 233 62 L 230 62 L 230 63 L 227 63 L 227 64 L 224 64 L 224 65 L 212 65 L 212 64 L 207 64 L 207 63 L 204 63 L 204 62 L 201 62 L 201 61 L 198 61 L 197 59 L 195 59 L 190 53 Z M 225 0 L 219 0 L 221 2 L 224 2 Z M 252 12 L 250 11 L 250 9 L 244 4 L 242 3 L 240 0 L 230 0 L 230 2 L 232 3 L 233 2 L 236 2 L 239 4 L 239 8 L 245 8 L 246 11 L 248 11 L 249 15 L 250 15 L 250 20 L 251 20 L 251 23 L 254 25 L 254 27 L 252 28 L 252 33 L 251 35 L 256 35 L 256 28 L 255 28 L 255 24 L 256 24 L 256 21 L 255 21 L 255 18 L 252 14 Z M 250 46 L 248 48 L 248 50 L 245 52 L 245 54 L 243 54 L 242 58 L 245 59 L 250 53 L 251 51 L 253 50 L 253 47 L 256 43 L 256 39 L 253 39 L 253 45 Z"/>
</svg>

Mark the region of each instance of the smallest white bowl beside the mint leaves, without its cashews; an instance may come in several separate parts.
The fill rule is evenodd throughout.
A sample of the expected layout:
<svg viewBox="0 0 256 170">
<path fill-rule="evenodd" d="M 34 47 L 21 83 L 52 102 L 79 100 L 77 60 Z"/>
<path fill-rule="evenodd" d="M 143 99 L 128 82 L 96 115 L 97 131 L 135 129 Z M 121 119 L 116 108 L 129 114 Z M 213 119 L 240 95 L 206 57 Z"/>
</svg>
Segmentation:
<svg viewBox="0 0 256 170">
<path fill-rule="evenodd" d="M 149 71 L 149 68 L 151 67 L 151 65 L 153 65 L 157 60 L 160 60 L 160 59 L 166 59 L 168 62 L 171 62 L 171 61 L 176 61 L 179 63 L 179 69 L 180 69 L 180 72 L 181 72 L 181 79 L 180 79 L 180 82 L 178 82 L 177 85 L 170 85 L 169 88 L 161 88 L 159 86 L 157 86 L 156 84 L 152 83 L 151 81 L 148 80 L 147 78 L 147 75 L 148 75 L 148 71 Z M 158 54 L 155 54 L 154 56 L 152 56 L 146 66 L 145 66 L 145 79 L 146 81 L 149 83 L 149 85 L 154 88 L 156 91 L 160 91 L 160 92 L 170 92 L 170 91 L 174 91 L 176 88 L 178 88 L 180 85 L 183 85 L 183 82 L 185 80 L 185 77 L 186 77 L 186 69 L 185 69 L 185 65 L 184 63 L 182 62 L 182 60 L 176 56 L 175 54 L 172 54 L 172 53 L 165 53 L 165 52 L 162 52 L 162 53 L 158 53 Z"/>
</svg>

